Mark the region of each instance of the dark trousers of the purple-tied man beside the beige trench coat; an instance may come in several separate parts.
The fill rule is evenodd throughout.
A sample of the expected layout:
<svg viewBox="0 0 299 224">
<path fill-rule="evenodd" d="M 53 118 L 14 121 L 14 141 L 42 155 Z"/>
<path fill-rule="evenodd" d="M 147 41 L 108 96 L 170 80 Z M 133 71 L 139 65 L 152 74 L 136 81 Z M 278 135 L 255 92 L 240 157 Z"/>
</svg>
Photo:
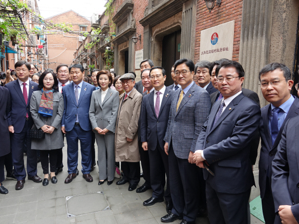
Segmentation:
<svg viewBox="0 0 299 224">
<path fill-rule="evenodd" d="M 165 197 L 165 200 L 172 201 L 170 195 L 169 186 L 169 166 L 168 166 L 168 155 L 166 155 L 164 149 L 162 149 L 157 143 L 155 150 L 148 149 L 148 155 L 150 156 L 151 163 L 151 187 L 153 189 L 153 197 L 161 198 Z M 166 191 L 165 187 L 165 174 L 166 174 Z"/>
</svg>

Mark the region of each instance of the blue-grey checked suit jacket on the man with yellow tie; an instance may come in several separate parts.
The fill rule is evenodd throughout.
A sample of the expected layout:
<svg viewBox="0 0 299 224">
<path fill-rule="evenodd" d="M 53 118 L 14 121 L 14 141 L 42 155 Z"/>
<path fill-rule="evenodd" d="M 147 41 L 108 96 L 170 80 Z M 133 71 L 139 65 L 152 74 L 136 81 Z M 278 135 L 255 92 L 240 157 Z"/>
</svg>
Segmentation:
<svg viewBox="0 0 299 224">
<path fill-rule="evenodd" d="M 201 127 L 210 113 L 211 100 L 205 89 L 194 82 L 177 110 L 181 91 L 180 88 L 173 93 L 164 141 L 169 143 L 168 147 L 173 145 L 178 158 L 188 159 L 190 151 L 195 152 Z"/>
</svg>

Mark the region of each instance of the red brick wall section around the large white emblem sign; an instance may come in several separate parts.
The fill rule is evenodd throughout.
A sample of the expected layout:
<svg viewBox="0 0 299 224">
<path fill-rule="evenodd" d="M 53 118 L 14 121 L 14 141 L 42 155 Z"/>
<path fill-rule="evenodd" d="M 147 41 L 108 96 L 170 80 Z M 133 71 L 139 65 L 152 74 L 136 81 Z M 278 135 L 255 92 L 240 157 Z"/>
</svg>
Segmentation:
<svg viewBox="0 0 299 224">
<path fill-rule="evenodd" d="M 215 6 L 211 13 L 209 13 L 205 2 L 198 1 L 195 36 L 195 62 L 200 60 L 201 31 L 232 20 L 234 20 L 232 60 L 239 60 L 242 6 L 243 0 L 223 0 L 220 7 Z"/>
</svg>

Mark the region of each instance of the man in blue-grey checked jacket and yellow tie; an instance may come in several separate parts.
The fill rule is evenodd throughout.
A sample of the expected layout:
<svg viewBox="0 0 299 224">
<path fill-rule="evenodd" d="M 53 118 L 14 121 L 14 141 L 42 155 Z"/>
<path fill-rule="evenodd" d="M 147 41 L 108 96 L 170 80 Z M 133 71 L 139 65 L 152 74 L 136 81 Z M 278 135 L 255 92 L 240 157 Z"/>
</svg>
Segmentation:
<svg viewBox="0 0 299 224">
<path fill-rule="evenodd" d="M 173 94 L 164 138 L 174 207 L 170 214 L 161 218 L 161 221 L 172 222 L 183 219 L 181 223 L 194 223 L 198 212 L 199 181 L 193 153 L 211 104 L 209 94 L 193 81 L 193 61 L 177 60 L 175 71 L 181 88 Z"/>
</svg>

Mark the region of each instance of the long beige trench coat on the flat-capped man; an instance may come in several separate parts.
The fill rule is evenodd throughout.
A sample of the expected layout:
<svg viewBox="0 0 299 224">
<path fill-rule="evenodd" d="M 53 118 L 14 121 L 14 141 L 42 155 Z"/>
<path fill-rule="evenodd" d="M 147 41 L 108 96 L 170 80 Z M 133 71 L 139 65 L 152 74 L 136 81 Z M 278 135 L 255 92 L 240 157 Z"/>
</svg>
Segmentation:
<svg viewBox="0 0 299 224">
<path fill-rule="evenodd" d="M 125 93 L 119 96 L 119 108 L 115 126 L 115 161 L 139 162 L 138 119 L 142 95 L 133 88 L 130 95 L 123 101 Z M 132 142 L 126 138 L 133 139 Z"/>
</svg>

